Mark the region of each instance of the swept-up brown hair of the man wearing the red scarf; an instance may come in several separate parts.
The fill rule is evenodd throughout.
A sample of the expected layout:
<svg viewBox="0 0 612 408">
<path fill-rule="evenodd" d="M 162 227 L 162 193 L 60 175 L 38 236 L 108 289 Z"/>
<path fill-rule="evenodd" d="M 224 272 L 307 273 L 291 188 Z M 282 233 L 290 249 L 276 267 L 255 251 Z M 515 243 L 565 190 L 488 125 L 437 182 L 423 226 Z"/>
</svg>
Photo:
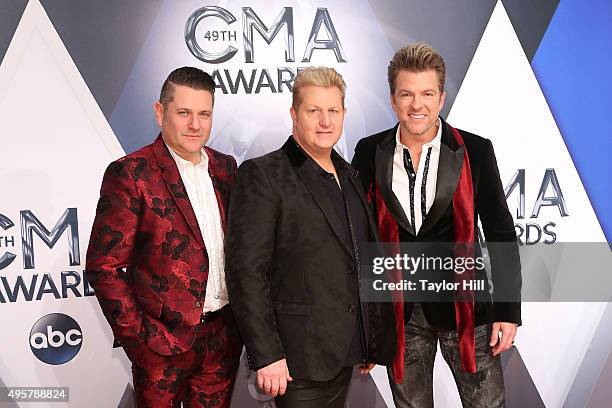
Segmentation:
<svg viewBox="0 0 612 408">
<path fill-rule="evenodd" d="M 395 79 L 401 70 L 415 73 L 435 71 L 438 75 L 440 93 L 444 92 L 446 65 L 442 56 L 431 45 L 414 43 L 397 50 L 387 68 L 391 94 L 395 92 Z"/>
</svg>

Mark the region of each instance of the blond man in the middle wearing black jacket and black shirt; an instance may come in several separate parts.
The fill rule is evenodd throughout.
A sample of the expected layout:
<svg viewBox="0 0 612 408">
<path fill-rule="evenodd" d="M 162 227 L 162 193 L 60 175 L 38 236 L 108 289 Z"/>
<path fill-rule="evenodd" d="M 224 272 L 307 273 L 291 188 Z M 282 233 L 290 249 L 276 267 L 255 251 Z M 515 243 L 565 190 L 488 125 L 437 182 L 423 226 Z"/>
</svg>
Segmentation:
<svg viewBox="0 0 612 408">
<path fill-rule="evenodd" d="M 343 407 L 353 366 L 367 373 L 395 351 L 381 337 L 392 305 L 360 302 L 358 249 L 376 241 L 376 225 L 357 173 L 333 150 L 344 92 L 335 70 L 301 70 L 293 135 L 244 162 L 232 191 L 229 298 L 258 385 L 279 408 Z"/>
</svg>

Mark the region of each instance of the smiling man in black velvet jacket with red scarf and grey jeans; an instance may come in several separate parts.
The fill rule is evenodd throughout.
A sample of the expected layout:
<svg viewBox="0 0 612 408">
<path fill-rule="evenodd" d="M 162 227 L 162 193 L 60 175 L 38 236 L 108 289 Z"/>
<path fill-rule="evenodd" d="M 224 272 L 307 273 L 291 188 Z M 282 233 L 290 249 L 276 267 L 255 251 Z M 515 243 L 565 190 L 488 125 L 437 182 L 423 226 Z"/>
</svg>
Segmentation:
<svg viewBox="0 0 612 408">
<path fill-rule="evenodd" d="M 412 44 L 396 52 L 388 79 L 399 123 L 360 140 L 353 158 L 375 207 L 381 239 L 472 245 L 480 217 L 487 242 L 507 243 L 489 245 L 493 287 L 518 294 L 514 223 L 493 146 L 438 116 L 445 97 L 444 60 L 427 44 Z M 398 349 L 389 378 L 396 406 L 433 406 L 438 341 L 463 405 L 503 406 L 499 354 L 513 343 L 520 303 L 410 303 L 409 297 L 405 293 L 406 303 L 395 308 L 400 329 L 394 333 Z"/>
</svg>

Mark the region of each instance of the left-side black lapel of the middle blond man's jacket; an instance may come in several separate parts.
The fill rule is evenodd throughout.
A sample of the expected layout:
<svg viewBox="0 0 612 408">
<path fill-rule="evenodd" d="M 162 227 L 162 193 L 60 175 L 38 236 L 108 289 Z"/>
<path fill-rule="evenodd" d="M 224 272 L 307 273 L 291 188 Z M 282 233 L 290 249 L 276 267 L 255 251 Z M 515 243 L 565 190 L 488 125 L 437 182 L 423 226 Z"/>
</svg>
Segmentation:
<svg viewBox="0 0 612 408">
<path fill-rule="evenodd" d="M 342 242 L 342 246 L 349 253 L 351 257 L 354 256 L 352 245 L 346 242 L 346 235 L 342 234 L 342 224 L 335 214 L 334 205 L 331 201 L 331 197 L 323 189 L 321 183 L 321 174 L 319 174 L 313 166 L 306 163 L 307 157 L 298 144 L 290 136 L 285 142 L 282 149 L 285 151 L 289 160 L 295 168 L 296 173 L 304 182 L 304 185 L 312 195 L 315 203 L 321 209 L 323 216 L 327 220 L 327 223 L 331 227 L 336 237 Z M 350 245 L 350 246 L 349 246 Z"/>
</svg>

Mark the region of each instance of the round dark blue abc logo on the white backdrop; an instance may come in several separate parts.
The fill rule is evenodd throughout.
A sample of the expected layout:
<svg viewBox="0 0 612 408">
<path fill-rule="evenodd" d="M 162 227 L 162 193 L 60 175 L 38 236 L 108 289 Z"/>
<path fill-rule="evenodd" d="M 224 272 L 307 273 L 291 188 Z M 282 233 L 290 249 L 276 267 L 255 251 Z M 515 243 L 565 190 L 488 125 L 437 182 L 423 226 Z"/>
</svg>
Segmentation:
<svg viewBox="0 0 612 408">
<path fill-rule="evenodd" d="M 40 361 L 64 364 L 81 349 L 83 334 L 79 324 L 70 316 L 51 313 L 38 319 L 30 330 L 30 349 Z"/>
</svg>

